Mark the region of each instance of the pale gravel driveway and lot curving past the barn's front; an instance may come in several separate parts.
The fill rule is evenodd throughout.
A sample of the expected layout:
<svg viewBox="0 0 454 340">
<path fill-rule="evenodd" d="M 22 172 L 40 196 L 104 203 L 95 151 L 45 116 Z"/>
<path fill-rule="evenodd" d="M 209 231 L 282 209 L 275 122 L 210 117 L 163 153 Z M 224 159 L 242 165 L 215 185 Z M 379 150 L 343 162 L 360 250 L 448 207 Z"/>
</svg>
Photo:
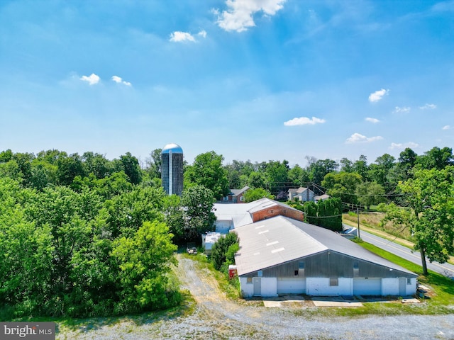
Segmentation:
<svg viewBox="0 0 454 340">
<path fill-rule="evenodd" d="M 57 339 L 454 339 L 454 314 L 392 317 L 297 316 L 295 307 L 266 308 L 260 302 L 226 299 L 209 271 L 179 256 L 177 275 L 196 300 L 189 316 L 125 318 L 78 329 Z M 314 307 L 300 307 L 314 308 Z"/>
</svg>

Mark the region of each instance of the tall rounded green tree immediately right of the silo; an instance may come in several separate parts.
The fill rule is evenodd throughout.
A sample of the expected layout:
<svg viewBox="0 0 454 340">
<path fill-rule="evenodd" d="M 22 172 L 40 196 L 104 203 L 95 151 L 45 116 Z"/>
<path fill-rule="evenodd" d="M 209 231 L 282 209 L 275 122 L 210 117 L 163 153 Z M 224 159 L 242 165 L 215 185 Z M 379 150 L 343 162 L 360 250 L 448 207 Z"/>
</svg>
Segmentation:
<svg viewBox="0 0 454 340">
<path fill-rule="evenodd" d="M 194 159 L 194 164 L 187 166 L 184 171 L 184 187 L 204 186 L 211 190 L 216 199 L 221 200 L 230 192 L 227 171 L 222 162 L 222 155 L 214 151 L 199 154 Z"/>
</svg>

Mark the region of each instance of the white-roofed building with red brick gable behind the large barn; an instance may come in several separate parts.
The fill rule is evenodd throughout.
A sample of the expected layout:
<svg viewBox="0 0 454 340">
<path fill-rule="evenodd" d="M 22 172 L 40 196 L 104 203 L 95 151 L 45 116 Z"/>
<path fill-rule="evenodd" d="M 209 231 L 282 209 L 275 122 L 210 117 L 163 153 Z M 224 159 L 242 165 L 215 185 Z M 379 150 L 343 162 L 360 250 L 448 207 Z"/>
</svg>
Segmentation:
<svg viewBox="0 0 454 340">
<path fill-rule="evenodd" d="M 304 213 L 287 204 L 261 198 L 250 203 L 223 204 L 214 203 L 214 222 L 216 232 L 226 234 L 231 229 L 248 225 L 259 220 L 265 220 L 277 215 L 292 217 L 294 220 L 303 221 Z"/>
</svg>

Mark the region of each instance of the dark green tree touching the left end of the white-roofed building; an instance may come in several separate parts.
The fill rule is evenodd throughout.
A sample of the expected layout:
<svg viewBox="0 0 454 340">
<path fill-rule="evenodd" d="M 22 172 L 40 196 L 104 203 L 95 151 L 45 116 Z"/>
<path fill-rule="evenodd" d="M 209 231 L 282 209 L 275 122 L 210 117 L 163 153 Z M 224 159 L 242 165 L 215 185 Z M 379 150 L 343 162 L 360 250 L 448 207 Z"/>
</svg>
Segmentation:
<svg viewBox="0 0 454 340">
<path fill-rule="evenodd" d="M 216 216 L 213 192 L 204 186 L 192 186 L 182 192 L 181 204 L 185 211 L 184 238 L 198 241 L 200 234 L 213 231 Z"/>
</svg>

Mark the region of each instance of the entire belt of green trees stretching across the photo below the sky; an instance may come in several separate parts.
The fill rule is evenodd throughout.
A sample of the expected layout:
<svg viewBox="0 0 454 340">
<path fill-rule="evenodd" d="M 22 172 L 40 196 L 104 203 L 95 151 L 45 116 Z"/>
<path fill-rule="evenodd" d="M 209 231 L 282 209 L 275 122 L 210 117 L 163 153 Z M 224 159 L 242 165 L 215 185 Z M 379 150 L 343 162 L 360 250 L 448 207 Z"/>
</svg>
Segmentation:
<svg viewBox="0 0 454 340">
<path fill-rule="evenodd" d="M 223 164 L 211 151 L 184 165 L 181 197 L 160 185 L 160 151 L 143 166 L 129 152 L 113 160 L 55 149 L 0 152 L 2 313 L 87 317 L 177 305 L 176 244 L 211 231 L 214 202 L 243 186 L 253 199 L 285 200 L 288 188 L 309 183 L 348 205 L 384 202 L 384 222 L 411 229 L 422 257 L 443 262 L 453 254 L 450 148 L 405 149 L 372 164 L 365 156 L 339 163 L 306 157 L 304 168 L 285 160 Z M 329 219 L 315 217 L 340 215 L 333 201 L 305 209 L 309 222 L 328 228 Z"/>
</svg>

